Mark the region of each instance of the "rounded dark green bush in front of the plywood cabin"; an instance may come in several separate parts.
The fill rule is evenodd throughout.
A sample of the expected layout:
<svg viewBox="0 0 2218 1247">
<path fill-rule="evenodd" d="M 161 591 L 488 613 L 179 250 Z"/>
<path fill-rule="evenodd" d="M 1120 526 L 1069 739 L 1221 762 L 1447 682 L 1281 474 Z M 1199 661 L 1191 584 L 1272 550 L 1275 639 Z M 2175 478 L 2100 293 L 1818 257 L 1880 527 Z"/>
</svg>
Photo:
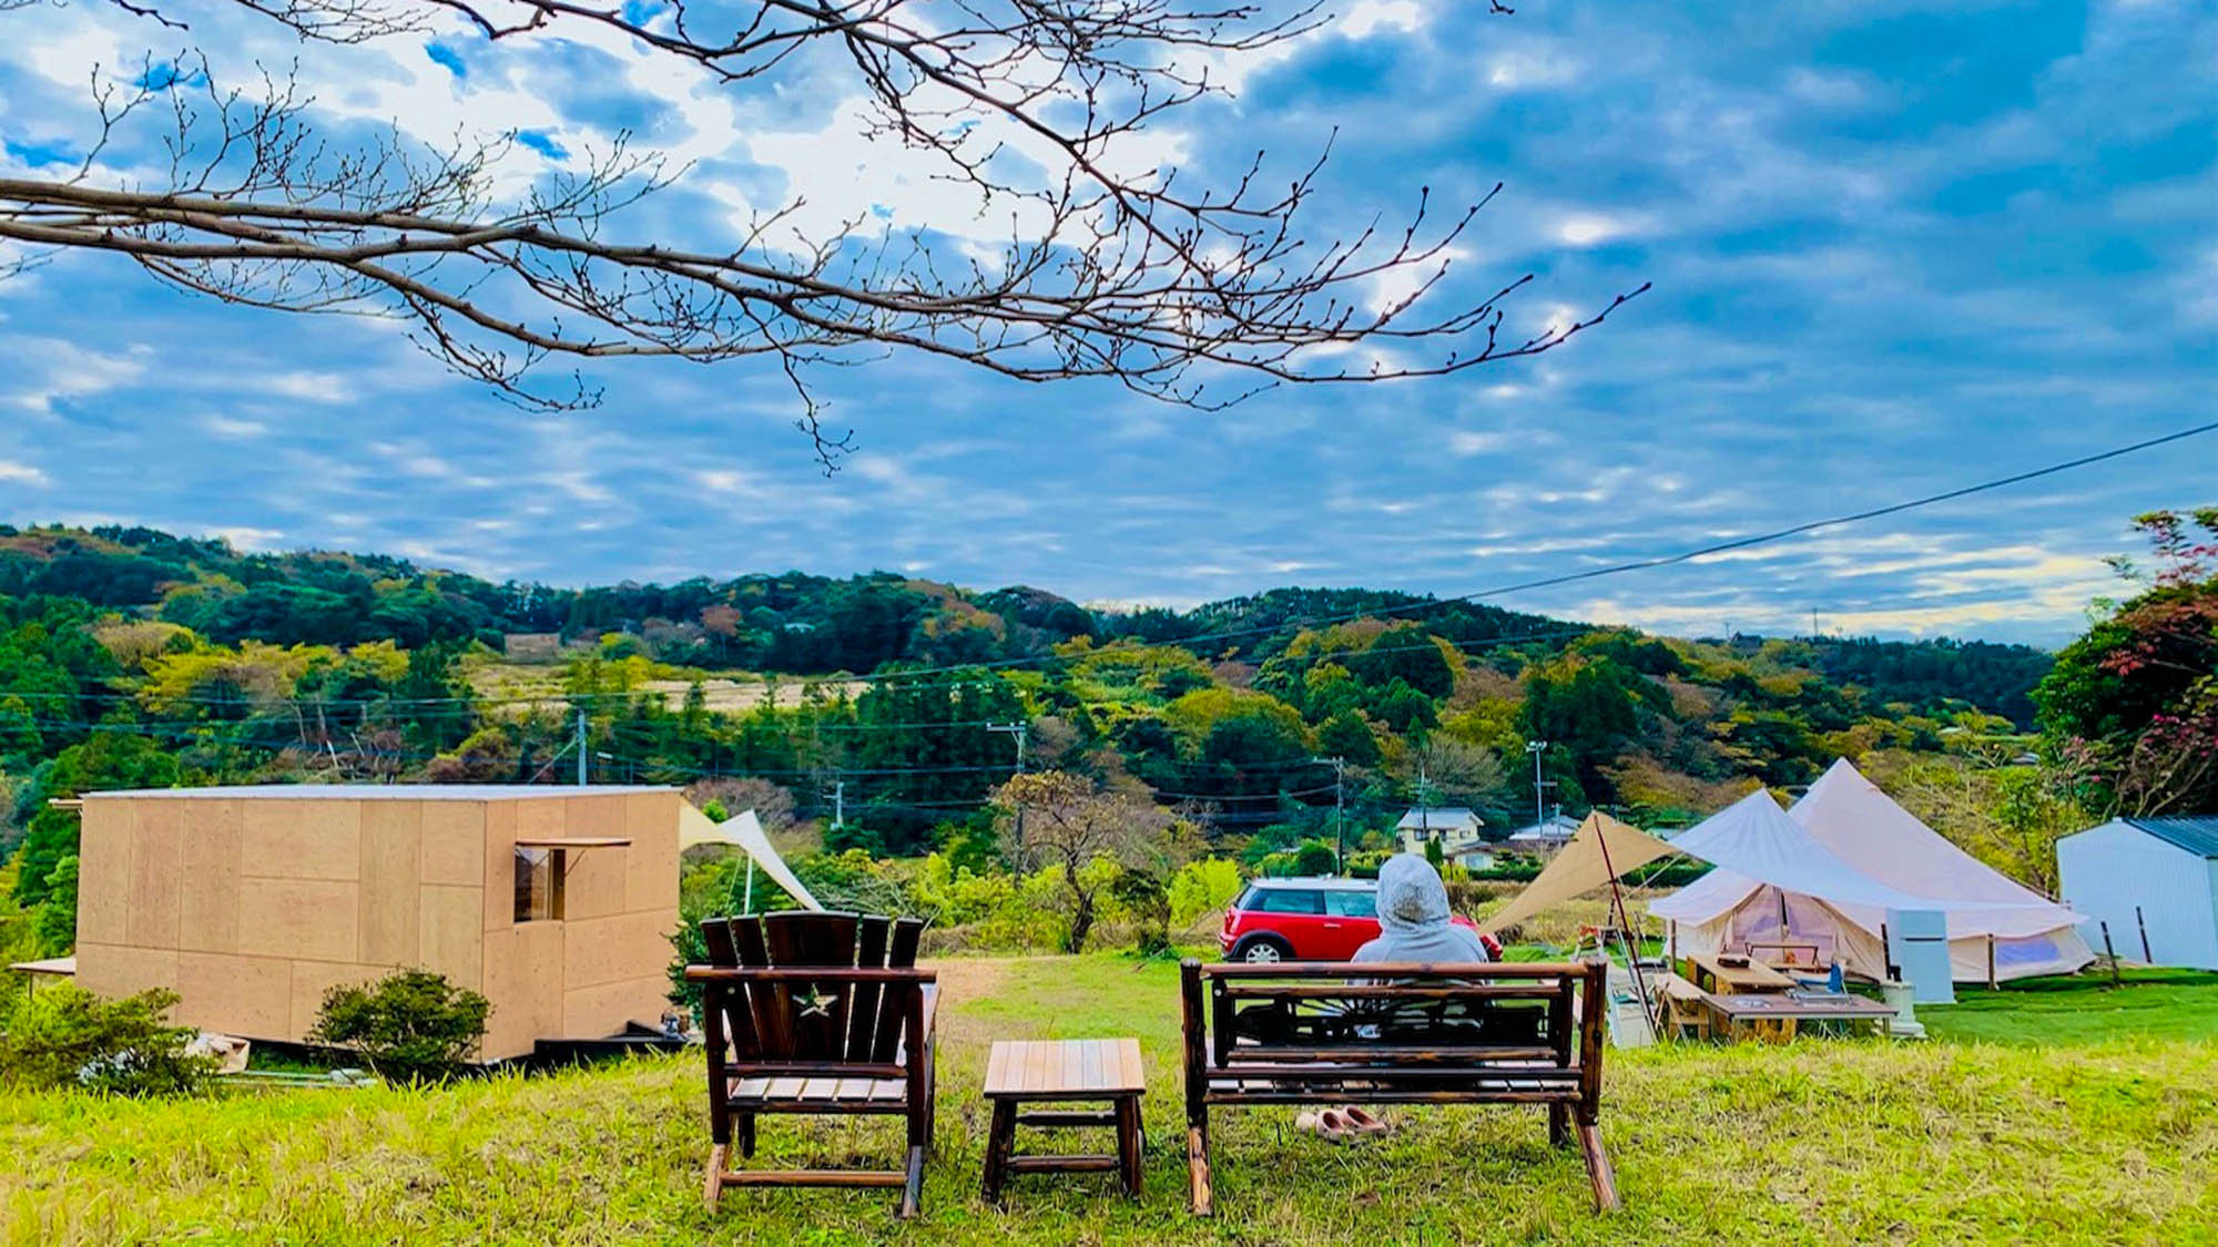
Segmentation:
<svg viewBox="0 0 2218 1247">
<path fill-rule="evenodd" d="M 430 970 L 401 970 L 368 987 L 333 987 L 311 1043 L 353 1052 L 384 1078 L 437 1083 L 461 1072 L 486 1036 L 492 1005 Z"/>
</svg>

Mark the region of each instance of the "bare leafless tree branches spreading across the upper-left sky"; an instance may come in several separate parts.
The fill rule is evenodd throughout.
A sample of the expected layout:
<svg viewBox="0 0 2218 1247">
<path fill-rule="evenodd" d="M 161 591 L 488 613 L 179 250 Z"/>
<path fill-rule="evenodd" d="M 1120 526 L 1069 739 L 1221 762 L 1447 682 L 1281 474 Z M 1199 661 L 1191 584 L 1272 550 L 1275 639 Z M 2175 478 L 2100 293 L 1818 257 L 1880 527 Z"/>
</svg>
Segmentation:
<svg viewBox="0 0 2218 1247">
<path fill-rule="evenodd" d="M 182 27 L 162 4 L 111 2 Z M 515 135 L 461 135 L 448 151 L 397 133 L 333 144 L 291 73 L 222 89 L 189 53 L 149 62 L 129 87 L 95 73 L 102 138 L 73 178 L 0 180 L 13 262 L 109 251 L 226 302 L 401 317 L 446 366 L 546 408 L 599 399 L 574 373 L 541 384 L 554 357 L 774 355 L 827 468 L 849 435 L 827 433 L 805 375 L 858 353 L 905 348 L 1025 382 L 1105 377 L 1218 408 L 1275 384 L 1537 355 L 1646 288 L 1519 335 L 1504 306 L 1530 275 L 1477 302 L 1442 293 L 1457 240 L 1493 193 L 1442 215 L 1420 191 L 1400 226 L 1309 237 L 1300 222 L 1322 155 L 1278 191 L 1264 189 L 1262 153 L 1220 189 L 1129 169 L 1133 135 L 1218 93 L 1213 58 L 1315 31 L 1315 4 L 1273 16 L 1235 0 L 231 2 L 324 42 L 455 16 L 490 40 L 603 29 L 734 89 L 801 51 L 830 55 L 869 102 L 865 135 L 934 155 L 980 209 L 1011 213 L 1009 240 L 980 253 L 863 222 L 810 233 L 794 202 L 756 215 L 730 251 L 621 242 L 610 229 L 621 211 L 681 175 L 623 135 L 503 197 L 495 169 Z M 166 178 L 146 186 L 109 173 L 111 138 L 164 102 Z M 1011 158 L 1029 173 L 1011 173 Z M 1388 286 L 1406 293 L 1380 302 Z"/>
</svg>

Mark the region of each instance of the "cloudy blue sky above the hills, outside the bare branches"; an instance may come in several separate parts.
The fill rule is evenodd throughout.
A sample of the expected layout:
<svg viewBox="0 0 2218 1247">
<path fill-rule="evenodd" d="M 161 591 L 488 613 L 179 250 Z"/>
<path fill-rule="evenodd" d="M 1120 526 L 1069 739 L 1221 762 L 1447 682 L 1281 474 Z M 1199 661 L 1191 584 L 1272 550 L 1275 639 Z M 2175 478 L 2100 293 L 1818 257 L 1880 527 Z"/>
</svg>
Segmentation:
<svg viewBox="0 0 2218 1247">
<path fill-rule="evenodd" d="M 623 47 L 461 29 L 295 47 L 195 0 L 217 73 L 299 58 L 317 115 L 517 129 L 515 178 L 619 126 L 694 162 L 630 229 L 803 193 L 874 229 L 947 191 L 810 67 L 734 98 Z M 75 160 L 93 62 L 173 51 L 102 4 L 0 13 L 0 178 Z M 2211 419 L 2218 16 L 2205 2 L 1353 0 L 1153 135 L 1196 175 L 1337 129 L 1320 229 L 1420 186 L 1504 193 L 1459 288 L 1535 273 L 1570 346 L 1227 413 L 883 357 L 818 375 L 861 450 L 825 479 L 776 368 L 610 366 L 517 410 L 390 324 L 226 308 L 98 255 L 0 282 L 0 515 L 364 548 L 559 584 L 903 570 L 1085 601 L 1278 584 L 1428 592 L 1879 506 Z M 124 160 L 122 155 L 118 158 Z M 129 173 L 129 169 L 126 169 Z M 845 197 L 845 204 L 841 204 Z M 2218 437 L 1863 528 L 1504 599 L 1677 632 L 2058 643 L 2127 517 L 2218 501 Z"/>
</svg>

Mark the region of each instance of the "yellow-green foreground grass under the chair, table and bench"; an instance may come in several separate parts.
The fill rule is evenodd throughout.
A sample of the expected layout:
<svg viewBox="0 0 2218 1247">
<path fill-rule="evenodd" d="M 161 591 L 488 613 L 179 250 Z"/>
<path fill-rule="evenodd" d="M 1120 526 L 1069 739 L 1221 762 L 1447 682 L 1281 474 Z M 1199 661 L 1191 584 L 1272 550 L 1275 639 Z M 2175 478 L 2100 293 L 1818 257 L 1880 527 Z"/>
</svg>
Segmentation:
<svg viewBox="0 0 2218 1247">
<path fill-rule="evenodd" d="M 1626 1211 L 1590 1211 L 1539 1112 L 1397 1112 L 1333 1147 L 1291 1112 L 1218 1118 L 1218 1216 L 1184 1211 L 1176 967 L 1118 956 L 943 965 L 940 1145 L 925 1216 L 881 1192 L 734 1192 L 701 1207 L 708 1132 L 683 1058 L 441 1092 L 202 1103 L 0 1103 L 9 1243 L 2198 1243 L 2218 1238 L 2218 1045 L 1664 1047 L 1610 1054 L 1604 1138 Z M 2109 996 L 2200 1007 L 2218 987 Z M 2147 996 L 2145 996 L 2147 994 Z M 2165 994 L 2165 996 L 2158 996 Z M 2023 1001 L 2063 992 L 2010 992 Z M 2045 1016 L 2049 1001 L 2029 1007 Z M 2001 1023 L 1967 1001 L 1936 1032 Z M 2145 1010 L 2183 1012 L 2178 1001 Z M 2191 1012 L 2191 1010 L 2187 1010 Z M 2202 1014 L 2207 1018 L 2207 1014 Z M 2047 1021 L 2043 1025 L 2049 1025 Z M 976 1089 L 994 1036 L 1138 1034 L 1151 1063 L 1147 1196 L 1020 1176 L 978 1200 Z M 772 1160 L 889 1163 L 896 1127 L 772 1121 Z"/>
</svg>

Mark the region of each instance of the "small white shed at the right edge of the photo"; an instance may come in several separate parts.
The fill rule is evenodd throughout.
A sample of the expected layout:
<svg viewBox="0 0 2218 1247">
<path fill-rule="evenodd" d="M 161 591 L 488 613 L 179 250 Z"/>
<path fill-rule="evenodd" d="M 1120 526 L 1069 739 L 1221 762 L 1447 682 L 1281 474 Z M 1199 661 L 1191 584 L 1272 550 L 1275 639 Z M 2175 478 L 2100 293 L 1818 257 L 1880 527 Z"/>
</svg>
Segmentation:
<svg viewBox="0 0 2218 1247">
<path fill-rule="evenodd" d="M 2218 814 L 2112 819 L 2056 841 L 2065 905 L 2125 961 L 2218 970 Z"/>
</svg>

